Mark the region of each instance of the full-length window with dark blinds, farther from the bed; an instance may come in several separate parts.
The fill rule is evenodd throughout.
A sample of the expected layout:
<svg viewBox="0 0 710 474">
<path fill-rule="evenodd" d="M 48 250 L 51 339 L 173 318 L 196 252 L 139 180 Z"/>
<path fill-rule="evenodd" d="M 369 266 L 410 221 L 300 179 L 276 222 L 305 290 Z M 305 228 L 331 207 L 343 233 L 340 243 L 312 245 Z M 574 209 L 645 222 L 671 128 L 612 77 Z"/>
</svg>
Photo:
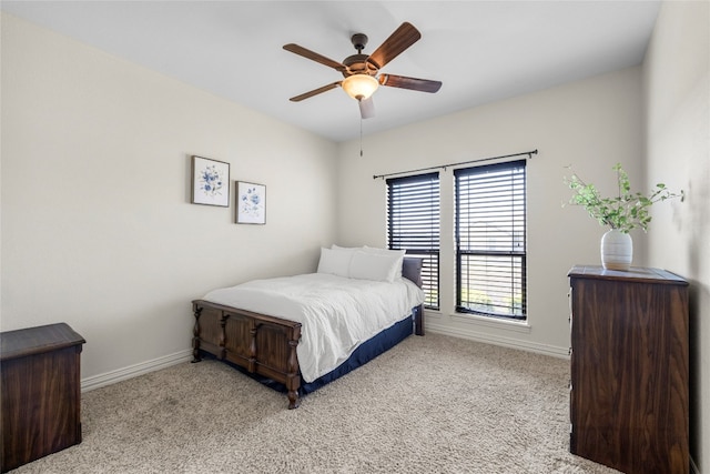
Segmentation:
<svg viewBox="0 0 710 474">
<path fill-rule="evenodd" d="M 525 320 L 525 161 L 454 171 L 456 311 Z"/>
</svg>

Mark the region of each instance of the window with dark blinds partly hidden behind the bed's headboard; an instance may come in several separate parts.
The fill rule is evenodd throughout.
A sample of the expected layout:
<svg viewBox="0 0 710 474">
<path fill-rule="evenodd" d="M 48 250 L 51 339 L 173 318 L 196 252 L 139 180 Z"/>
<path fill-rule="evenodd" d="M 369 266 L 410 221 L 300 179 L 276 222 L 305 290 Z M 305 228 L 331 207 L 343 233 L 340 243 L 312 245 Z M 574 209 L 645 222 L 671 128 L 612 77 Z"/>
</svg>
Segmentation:
<svg viewBox="0 0 710 474">
<path fill-rule="evenodd" d="M 439 173 L 387 180 L 387 245 L 424 260 L 424 306 L 439 309 Z"/>
</svg>

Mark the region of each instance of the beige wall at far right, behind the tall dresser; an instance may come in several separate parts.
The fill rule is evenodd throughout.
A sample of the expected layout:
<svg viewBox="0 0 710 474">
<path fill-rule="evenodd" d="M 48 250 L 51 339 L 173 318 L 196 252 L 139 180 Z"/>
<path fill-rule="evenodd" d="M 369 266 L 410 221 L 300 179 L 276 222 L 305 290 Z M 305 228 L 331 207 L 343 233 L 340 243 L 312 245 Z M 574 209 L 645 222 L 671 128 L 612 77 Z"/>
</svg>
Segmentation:
<svg viewBox="0 0 710 474">
<path fill-rule="evenodd" d="M 684 202 L 653 209 L 649 262 L 690 281 L 690 442 L 710 463 L 710 3 L 661 8 L 643 64 L 647 184 L 682 188 Z M 704 395 L 703 395 L 704 394 Z"/>
</svg>

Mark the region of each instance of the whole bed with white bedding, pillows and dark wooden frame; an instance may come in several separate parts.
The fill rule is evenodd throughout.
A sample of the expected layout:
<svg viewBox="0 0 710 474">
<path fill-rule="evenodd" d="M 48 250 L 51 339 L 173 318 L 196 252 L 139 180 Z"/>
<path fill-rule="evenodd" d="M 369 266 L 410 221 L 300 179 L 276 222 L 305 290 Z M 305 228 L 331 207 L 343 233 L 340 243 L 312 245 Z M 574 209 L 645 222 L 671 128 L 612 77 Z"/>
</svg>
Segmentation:
<svg viewBox="0 0 710 474">
<path fill-rule="evenodd" d="M 192 302 L 193 362 L 209 355 L 301 396 L 424 335 L 422 260 L 404 251 L 321 250 L 316 273 L 254 280 Z"/>
</svg>

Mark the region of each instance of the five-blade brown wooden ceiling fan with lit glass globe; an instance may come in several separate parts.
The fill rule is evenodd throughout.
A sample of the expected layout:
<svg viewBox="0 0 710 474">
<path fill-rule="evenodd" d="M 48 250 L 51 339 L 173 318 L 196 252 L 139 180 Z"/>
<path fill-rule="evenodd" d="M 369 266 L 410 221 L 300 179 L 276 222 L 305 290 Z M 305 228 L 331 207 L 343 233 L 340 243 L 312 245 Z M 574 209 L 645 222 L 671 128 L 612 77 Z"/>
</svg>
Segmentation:
<svg viewBox="0 0 710 474">
<path fill-rule="evenodd" d="M 427 79 L 407 78 L 404 75 L 395 75 L 379 73 L 379 70 L 389 61 L 399 56 L 404 50 L 417 42 L 422 38 L 419 30 L 410 23 L 404 22 L 394 33 L 385 40 L 372 54 L 363 54 L 363 50 L 367 44 L 367 36 L 363 33 L 353 34 L 351 42 L 357 50 L 357 54 L 348 56 L 343 62 L 334 61 L 317 52 L 313 52 L 298 44 L 288 43 L 284 46 L 286 51 L 320 62 L 335 69 L 343 74 L 342 81 L 332 82 L 327 85 L 314 89 L 291 98 L 292 102 L 300 102 L 313 95 L 329 91 L 337 87 L 342 87 L 345 92 L 359 103 L 361 117 L 369 119 L 375 115 L 375 109 L 372 101 L 372 94 L 379 85 L 392 88 L 409 89 L 420 92 L 437 92 L 442 88 L 440 81 L 430 81 Z"/>
</svg>

